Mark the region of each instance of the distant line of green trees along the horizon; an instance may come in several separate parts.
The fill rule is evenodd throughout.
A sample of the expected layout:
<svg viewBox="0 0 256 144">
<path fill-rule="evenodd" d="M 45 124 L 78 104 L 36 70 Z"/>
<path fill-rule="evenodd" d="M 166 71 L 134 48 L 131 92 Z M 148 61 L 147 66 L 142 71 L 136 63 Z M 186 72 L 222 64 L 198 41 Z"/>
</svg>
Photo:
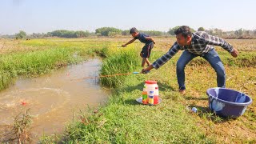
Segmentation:
<svg viewBox="0 0 256 144">
<path fill-rule="evenodd" d="M 178 29 L 179 26 L 175 26 L 170 28 L 168 31 L 157 31 L 157 30 L 139 30 L 144 34 L 148 34 L 150 36 L 171 36 L 175 35 L 174 31 Z M 206 31 L 208 34 L 215 35 L 222 38 L 256 38 L 256 30 L 231 30 L 224 31 L 221 29 L 205 29 L 204 27 L 199 27 L 198 31 Z M 89 36 L 105 36 L 105 37 L 113 37 L 113 36 L 127 36 L 130 35 L 130 30 L 120 30 L 114 27 L 101 27 L 95 30 L 95 32 L 89 32 L 88 30 L 54 30 L 48 33 L 33 33 L 26 34 L 25 31 L 20 30 L 18 34 L 14 35 L 0 35 L 1 38 L 49 38 L 49 37 L 57 37 L 57 38 L 86 38 Z M 193 28 L 191 31 L 194 32 Z"/>
</svg>

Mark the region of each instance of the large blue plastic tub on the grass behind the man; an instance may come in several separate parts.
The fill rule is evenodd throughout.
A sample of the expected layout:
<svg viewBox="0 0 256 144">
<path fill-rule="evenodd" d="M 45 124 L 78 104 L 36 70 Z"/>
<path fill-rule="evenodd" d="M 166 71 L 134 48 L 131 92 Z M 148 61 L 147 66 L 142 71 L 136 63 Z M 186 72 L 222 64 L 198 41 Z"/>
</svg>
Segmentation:
<svg viewBox="0 0 256 144">
<path fill-rule="evenodd" d="M 252 99 L 236 90 L 226 88 L 210 88 L 206 91 L 209 108 L 222 117 L 238 118 L 245 113 Z"/>
</svg>

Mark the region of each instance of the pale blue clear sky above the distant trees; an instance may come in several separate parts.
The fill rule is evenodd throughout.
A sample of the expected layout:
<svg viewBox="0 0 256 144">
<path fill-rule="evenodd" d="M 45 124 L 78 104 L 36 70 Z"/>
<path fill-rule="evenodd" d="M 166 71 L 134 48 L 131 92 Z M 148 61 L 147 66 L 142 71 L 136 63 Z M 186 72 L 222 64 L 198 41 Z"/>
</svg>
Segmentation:
<svg viewBox="0 0 256 144">
<path fill-rule="evenodd" d="M 103 26 L 168 31 L 256 29 L 255 0 L 0 0 L 0 34 L 89 30 Z"/>
</svg>

